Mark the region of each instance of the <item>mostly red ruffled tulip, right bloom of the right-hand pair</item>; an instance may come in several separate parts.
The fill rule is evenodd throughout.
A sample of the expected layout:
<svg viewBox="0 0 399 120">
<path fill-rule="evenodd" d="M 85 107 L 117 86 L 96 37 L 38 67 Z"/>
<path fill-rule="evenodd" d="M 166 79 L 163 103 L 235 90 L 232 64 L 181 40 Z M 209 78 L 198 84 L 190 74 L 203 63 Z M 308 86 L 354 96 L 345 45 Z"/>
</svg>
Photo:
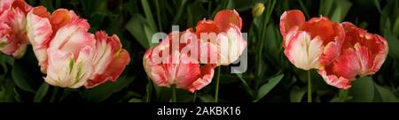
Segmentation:
<svg viewBox="0 0 399 120">
<path fill-rule="evenodd" d="M 345 41 L 332 64 L 318 73 L 331 86 L 348 89 L 356 76 L 364 77 L 379 71 L 387 56 L 387 41 L 378 34 L 367 33 L 352 23 L 344 22 Z"/>
</svg>

